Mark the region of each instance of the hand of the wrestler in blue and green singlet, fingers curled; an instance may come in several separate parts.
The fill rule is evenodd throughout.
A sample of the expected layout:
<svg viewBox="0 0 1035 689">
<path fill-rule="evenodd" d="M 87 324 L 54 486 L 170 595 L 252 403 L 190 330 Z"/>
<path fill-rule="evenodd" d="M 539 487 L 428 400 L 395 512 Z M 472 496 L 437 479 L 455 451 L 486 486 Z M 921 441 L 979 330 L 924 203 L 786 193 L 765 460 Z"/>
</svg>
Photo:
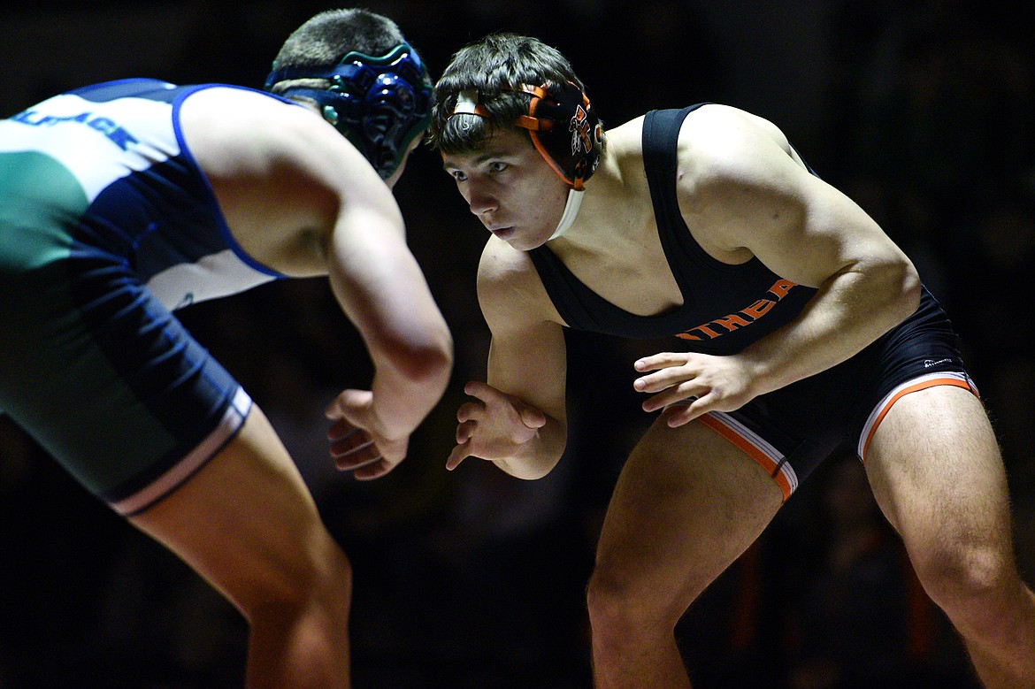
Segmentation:
<svg viewBox="0 0 1035 689">
<path fill-rule="evenodd" d="M 406 457 L 409 437 L 386 438 L 378 431 L 374 393 L 346 390 L 327 408 L 330 455 L 341 471 L 351 471 L 359 480 L 384 476 Z"/>
</svg>

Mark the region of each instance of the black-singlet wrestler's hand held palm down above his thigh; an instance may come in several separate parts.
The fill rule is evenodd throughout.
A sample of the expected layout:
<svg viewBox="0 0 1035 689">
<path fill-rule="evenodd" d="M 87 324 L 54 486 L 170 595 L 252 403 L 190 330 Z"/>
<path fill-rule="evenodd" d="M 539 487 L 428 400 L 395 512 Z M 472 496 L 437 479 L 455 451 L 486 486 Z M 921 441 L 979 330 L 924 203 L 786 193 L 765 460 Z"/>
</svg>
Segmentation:
<svg viewBox="0 0 1035 689">
<path fill-rule="evenodd" d="M 673 428 L 707 412 L 740 409 L 755 396 L 751 371 L 736 356 L 663 352 L 639 359 L 633 366 L 641 372 L 653 371 L 632 382 L 638 392 L 655 393 L 644 401 L 645 412 L 683 402 L 666 417 Z"/>
</svg>

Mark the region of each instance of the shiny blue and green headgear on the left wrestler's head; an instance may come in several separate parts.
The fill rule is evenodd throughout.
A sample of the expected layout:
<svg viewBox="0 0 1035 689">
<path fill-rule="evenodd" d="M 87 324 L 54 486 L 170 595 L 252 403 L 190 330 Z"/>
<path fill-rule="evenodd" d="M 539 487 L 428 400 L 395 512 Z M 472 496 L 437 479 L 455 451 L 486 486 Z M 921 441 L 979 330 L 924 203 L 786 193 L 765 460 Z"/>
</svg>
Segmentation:
<svg viewBox="0 0 1035 689">
<path fill-rule="evenodd" d="M 382 179 L 403 163 L 413 140 L 431 122 L 432 80 L 408 43 L 371 57 L 352 52 L 332 67 L 285 67 L 266 78 L 266 90 L 277 82 L 327 79 L 327 89 L 294 87 L 282 96 L 305 96 L 320 104 L 324 119 L 359 149 Z"/>
</svg>

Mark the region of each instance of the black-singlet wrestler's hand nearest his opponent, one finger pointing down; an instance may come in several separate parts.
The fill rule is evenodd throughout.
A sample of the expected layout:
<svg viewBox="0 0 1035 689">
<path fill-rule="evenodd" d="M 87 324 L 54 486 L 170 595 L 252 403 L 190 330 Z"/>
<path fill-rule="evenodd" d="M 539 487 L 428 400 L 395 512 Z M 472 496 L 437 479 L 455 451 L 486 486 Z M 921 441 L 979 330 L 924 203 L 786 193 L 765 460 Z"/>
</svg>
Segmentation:
<svg viewBox="0 0 1035 689">
<path fill-rule="evenodd" d="M 546 423 L 542 411 L 487 383 L 472 381 L 464 392 L 475 398 L 456 411 L 456 447 L 446 459 L 453 470 L 467 457 L 506 459 L 532 440 Z"/>
</svg>

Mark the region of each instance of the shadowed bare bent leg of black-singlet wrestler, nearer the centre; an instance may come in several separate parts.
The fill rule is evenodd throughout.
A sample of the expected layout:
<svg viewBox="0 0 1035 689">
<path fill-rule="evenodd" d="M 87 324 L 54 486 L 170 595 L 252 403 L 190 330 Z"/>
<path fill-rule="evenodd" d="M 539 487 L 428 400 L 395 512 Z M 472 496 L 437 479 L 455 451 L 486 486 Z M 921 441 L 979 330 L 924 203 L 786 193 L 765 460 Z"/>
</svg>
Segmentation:
<svg viewBox="0 0 1035 689">
<path fill-rule="evenodd" d="M 688 687 L 676 623 L 781 504 L 766 472 L 704 424 L 656 421 L 618 479 L 590 578 L 596 686 Z"/>
</svg>

